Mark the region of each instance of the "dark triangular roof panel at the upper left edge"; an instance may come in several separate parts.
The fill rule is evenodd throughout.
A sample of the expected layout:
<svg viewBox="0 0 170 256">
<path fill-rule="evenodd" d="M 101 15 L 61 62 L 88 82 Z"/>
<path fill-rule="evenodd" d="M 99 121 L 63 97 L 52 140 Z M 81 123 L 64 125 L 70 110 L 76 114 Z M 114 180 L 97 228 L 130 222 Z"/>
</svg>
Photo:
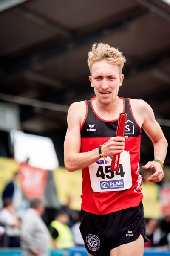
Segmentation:
<svg viewBox="0 0 170 256">
<path fill-rule="evenodd" d="M 0 54 L 10 54 L 48 38 L 54 32 L 31 20 L 14 14 L 11 10 L 0 14 Z"/>
</svg>

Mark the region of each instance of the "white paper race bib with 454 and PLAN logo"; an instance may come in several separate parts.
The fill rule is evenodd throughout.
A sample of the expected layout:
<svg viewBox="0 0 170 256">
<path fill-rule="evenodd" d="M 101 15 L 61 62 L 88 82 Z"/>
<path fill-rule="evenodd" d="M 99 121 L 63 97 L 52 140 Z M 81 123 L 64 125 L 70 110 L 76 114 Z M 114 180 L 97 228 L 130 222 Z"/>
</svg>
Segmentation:
<svg viewBox="0 0 170 256">
<path fill-rule="evenodd" d="M 132 186 L 129 151 L 120 154 L 117 172 L 111 171 L 111 157 L 105 157 L 91 164 L 89 173 L 94 192 L 129 189 Z"/>
</svg>

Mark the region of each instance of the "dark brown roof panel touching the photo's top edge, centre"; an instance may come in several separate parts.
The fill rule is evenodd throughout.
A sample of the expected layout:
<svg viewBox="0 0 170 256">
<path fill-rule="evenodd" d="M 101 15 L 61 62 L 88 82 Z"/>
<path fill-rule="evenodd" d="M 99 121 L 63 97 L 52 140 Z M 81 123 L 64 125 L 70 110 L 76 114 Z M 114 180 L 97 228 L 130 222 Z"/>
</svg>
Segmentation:
<svg viewBox="0 0 170 256">
<path fill-rule="evenodd" d="M 36 0 L 23 6 L 69 29 L 78 29 L 140 5 L 134 0 Z"/>
</svg>

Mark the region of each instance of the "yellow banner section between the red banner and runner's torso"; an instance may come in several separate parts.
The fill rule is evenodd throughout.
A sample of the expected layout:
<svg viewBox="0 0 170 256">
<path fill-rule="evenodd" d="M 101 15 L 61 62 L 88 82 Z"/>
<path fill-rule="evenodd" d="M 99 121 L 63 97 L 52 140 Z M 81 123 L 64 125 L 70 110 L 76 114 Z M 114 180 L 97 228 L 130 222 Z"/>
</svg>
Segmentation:
<svg viewBox="0 0 170 256">
<path fill-rule="evenodd" d="M 69 201 L 71 209 L 79 210 L 82 202 L 82 172 L 68 172 L 65 168 L 59 167 L 53 175 L 61 204 L 66 205 Z"/>
</svg>

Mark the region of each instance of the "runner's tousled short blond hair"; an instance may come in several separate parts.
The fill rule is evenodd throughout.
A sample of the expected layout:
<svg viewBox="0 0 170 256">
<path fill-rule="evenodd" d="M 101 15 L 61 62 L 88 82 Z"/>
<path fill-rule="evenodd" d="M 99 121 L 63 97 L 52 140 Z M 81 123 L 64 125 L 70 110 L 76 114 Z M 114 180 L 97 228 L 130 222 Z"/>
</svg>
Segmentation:
<svg viewBox="0 0 170 256">
<path fill-rule="evenodd" d="M 88 52 L 88 67 L 91 72 L 92 65 L 97 61 L 105 60 L 113 65 L 118 65 L 119 73 L 122 74 L 125 57 L 119 49 L 111 47 L 109 44 L 95 43 Z"/>
</svg>

